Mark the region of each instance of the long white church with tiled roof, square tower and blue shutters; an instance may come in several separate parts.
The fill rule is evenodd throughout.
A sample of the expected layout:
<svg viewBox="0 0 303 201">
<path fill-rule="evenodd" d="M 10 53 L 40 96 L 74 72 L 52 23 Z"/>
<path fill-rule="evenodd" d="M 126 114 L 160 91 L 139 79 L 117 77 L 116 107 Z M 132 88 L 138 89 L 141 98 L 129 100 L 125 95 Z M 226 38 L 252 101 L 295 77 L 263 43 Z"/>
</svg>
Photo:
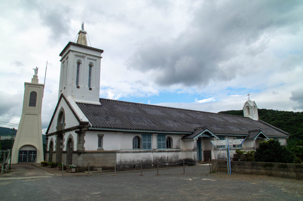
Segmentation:
<svg viewBox="0 0 303 201">
<path fill-rule="evenodd" d="M 69 42 L 60 53 L 58 103 L 46 135 L 48 162 L 109 169 L 142 162 L 178 163 L 226 158 L 224 145 L 211 140 L 245 139 L 231 145 L 255 150 L 270 138 L 286 145 L 289 134 L 258 120 L 255 101 L 245 102 L 244 116 L 210 113 L 99 98 L 102 49 L 87 46 L 82 26 L 77 43 Z"/>
</svg>

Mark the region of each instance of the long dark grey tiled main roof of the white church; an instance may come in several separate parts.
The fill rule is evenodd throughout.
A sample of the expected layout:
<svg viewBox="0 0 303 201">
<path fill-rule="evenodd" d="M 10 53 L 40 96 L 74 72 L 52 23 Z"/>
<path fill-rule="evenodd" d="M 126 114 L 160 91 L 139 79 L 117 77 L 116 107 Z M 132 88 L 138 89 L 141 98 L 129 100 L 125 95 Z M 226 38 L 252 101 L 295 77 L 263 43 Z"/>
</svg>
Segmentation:
<svg viewBox="0 0 303 201">
<path fill-rule="evenodd" d="M 92 127 L 96 128 L 194 132 L 196 127 L 206 126 L 214 134 L 248 136 L 249 130 L 261 129 L 267 136 L 288 136 L 287 132 L 248 117 L 104 98 L 100 98 L 100 103 L 77 103 Z"/>
</svg>

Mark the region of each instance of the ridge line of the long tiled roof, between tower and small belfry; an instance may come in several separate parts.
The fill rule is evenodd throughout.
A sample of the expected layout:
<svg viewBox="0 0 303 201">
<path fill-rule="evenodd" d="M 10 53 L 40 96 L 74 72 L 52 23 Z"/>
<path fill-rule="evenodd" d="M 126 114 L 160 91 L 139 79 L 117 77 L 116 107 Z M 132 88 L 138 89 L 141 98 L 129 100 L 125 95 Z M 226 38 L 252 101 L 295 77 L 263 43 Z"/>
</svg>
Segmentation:
<svg viewBox="0 0 303 201">
<path fill-rule="evenodd" d="M 233 116 L 233 117 L 237 116 L 237 115 L 231 115 L 231 114 L 221 114 L 221 113 L 206 112 L 206 111 L 200 111 L 200 110 L 190 110 L 190 109 L 184 109 L 184 108 L 178 108 L 178 107 L 168 107 L 168 106 L 162 106 L 162 105 L 151 105 L 151 104 L 135 103 L 135 102 L 129 102 L 129 101 L 119 101 L 119 100 L 113 100 L 113 99 L 108 99 L 108 98 L 99 98 L 99 101 L 119 102 L 119 103 L 132 104 L 132 105 L 142 105 L 142 106 L 147 106 L 147 107 L 159 107 L 159 108 L 167 108 L 167 109 L 173 109 L 173 110 L 200 112 L 200 113 L 216 114 L 216 115 L 223 115 L 223 116 Z M 245 117 L 245 116 L 237 116 L 237 117 L 248 118 L 248 117 Z"/>
</svg>

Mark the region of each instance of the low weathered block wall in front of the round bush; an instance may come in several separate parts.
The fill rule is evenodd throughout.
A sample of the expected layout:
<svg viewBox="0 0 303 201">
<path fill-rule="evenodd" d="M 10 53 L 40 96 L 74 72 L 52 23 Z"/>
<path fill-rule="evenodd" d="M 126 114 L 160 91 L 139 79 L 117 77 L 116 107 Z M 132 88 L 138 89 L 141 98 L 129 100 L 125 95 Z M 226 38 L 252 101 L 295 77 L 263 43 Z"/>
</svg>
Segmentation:
<svg viewBox="0 0 303 201">
<path fill-rule="evenodd" d="M 226 160 L 211 160 L 212 171 L 227 172 Z M 303 164 L 231 161 L 231 172 L 303 179 Z"/>
</svg>

